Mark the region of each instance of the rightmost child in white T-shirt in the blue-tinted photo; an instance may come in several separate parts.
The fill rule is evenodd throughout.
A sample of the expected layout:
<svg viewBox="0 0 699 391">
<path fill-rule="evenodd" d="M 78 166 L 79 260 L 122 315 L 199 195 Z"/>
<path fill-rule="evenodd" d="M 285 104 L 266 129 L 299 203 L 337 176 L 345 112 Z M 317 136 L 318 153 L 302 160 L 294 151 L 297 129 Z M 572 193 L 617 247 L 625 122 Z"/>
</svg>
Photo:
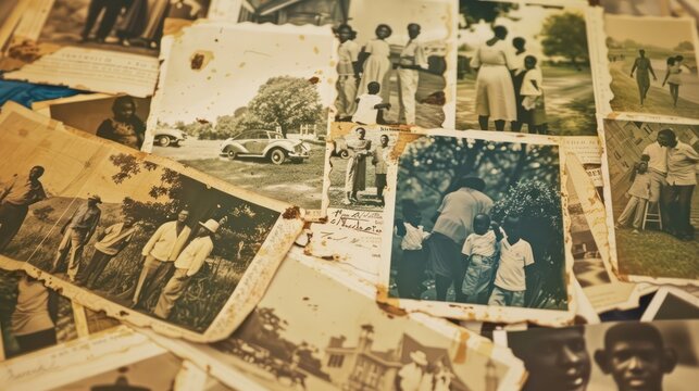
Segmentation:
<svg viewBox="0 0 699 391">
<path fill-rule="evenodd" d="M 532 245 L 522 239 L 520 225 L 520 217 L 508 216 L 504 219 L 505 237 L 500 240 L 500 264 L 488 305 L 524 306 L 525 270 L 534 264 L 534 253 Z"/>
</svg>

